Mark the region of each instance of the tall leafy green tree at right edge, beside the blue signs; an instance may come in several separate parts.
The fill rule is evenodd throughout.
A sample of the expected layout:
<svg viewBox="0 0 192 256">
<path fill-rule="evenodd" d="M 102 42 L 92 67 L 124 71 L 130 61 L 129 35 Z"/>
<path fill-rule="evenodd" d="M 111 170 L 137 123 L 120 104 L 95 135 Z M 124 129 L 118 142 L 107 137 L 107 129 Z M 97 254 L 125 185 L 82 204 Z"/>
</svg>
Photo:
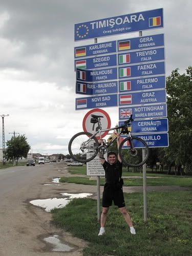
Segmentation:
<svg viewBox="0 0 192 256">
<path fill-rule="evenodd" d="M 164 148 L 168 162 L 176 166 L 181 174 L 181 166 L 191 168 L 192 164 L 192 67 L 180 75 L 178 69 L 166 80 L 167 108 L 169 121 L 169 147 Z"/>
</svg>

